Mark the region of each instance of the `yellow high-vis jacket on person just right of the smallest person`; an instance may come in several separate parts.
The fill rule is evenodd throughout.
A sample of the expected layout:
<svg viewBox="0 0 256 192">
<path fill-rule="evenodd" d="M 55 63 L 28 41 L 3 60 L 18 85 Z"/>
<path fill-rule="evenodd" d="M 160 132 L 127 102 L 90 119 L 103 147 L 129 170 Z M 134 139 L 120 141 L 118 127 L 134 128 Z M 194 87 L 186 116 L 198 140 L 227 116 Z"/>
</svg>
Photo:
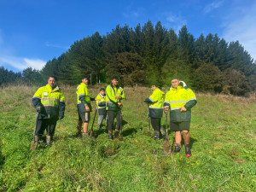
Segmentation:
<svg viewBox="0 0 256 192">
<path fill-rule="evenodd" d="M 108 87 L 106 88 L 106 102 L 107 102 L 107 110 L 109 111 L 119 111 L 119 105 L 118 101 L 115 97 L 116 96 L 121 96 L 121 99 L 125 98 L 125 93 L 124 90 L 117 86 L 114 87 L 112 84 L 109 84 Z"/>
</svg>

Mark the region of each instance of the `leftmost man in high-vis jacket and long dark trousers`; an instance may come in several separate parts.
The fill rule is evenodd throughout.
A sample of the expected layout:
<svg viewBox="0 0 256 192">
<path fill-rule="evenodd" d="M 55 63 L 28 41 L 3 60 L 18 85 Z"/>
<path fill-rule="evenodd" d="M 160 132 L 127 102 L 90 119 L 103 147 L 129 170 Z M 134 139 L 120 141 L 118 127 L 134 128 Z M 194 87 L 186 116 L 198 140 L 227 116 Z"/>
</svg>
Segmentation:
<svg viewBox="0 0 256 192">
<path fill-rule="evenodd" d="M 61 87 L 55 84 L 55 77 L 50 76 L 48 84 L 37 90 L 32 97 L 32 104 L 38 114 L 31 144 L 31 149 L 34 150 L 44 135 L 45 129 L 46 144 L 51 145 L 57 120 L 64 118 L 65 97 Z"/>
</svg>

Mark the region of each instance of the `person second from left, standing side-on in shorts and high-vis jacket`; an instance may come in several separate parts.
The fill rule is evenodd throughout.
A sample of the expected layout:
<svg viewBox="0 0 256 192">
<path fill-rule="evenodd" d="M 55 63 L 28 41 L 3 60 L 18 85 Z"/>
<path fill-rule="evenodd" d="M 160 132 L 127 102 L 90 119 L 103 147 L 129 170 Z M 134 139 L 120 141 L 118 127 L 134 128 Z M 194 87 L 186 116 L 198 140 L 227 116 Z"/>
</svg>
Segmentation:
<svg viewBox="0 0 256 192">
<path fill-rule="evenodd" d="M 77 95 L 78 95 L 78 113 L 79 113 L 79 122 L 78 122 L 78 134 L 77 136 L 80 137 L 88 137 L 88 125 L 90 121 L 90 112 L 91 112 L 91 105 L 90 101 L 95 101 L 97 99 L 90 97 L 89 91 L 88 91 L 88 84 L 89 84 L 89 78 L 87 76 L 84 76 L 82 78 L 82 83 L 79 84 L 77 87 Z M 82 123 L 83 125 L 83 133 L 81 134 L 82 129 Z"/>
</svg>

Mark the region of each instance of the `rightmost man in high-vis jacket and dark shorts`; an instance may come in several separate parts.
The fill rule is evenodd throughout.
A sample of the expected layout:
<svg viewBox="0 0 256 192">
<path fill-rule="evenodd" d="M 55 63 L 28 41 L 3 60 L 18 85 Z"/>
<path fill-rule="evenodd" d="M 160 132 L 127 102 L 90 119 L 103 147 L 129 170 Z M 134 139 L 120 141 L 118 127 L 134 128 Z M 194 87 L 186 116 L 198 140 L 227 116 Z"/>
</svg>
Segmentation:
<svg viewBox="0 0 256 192">
<path fill-rule="evenodd" d="M 196 104 L 195 93 L 177 77 L 172 78 L 172 87 L 166 93 L 164 109 L 170 111 L 170 128 L 175 131 L 175 152 L 181 150 L 181 132 L 185 144 L 186 156 L 191 156 L 189 147 L 189 127 L 191 120 L 191 108 Z"/>
</svg>

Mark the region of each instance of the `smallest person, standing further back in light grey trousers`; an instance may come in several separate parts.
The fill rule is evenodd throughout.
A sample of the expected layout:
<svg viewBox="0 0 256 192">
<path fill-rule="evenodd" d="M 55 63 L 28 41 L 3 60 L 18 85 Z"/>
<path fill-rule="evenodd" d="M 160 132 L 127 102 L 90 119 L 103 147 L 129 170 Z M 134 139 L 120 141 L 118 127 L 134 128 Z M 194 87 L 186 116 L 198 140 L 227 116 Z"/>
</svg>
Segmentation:
<svg viewBox="0 0 256 192">
<path fill-rule="evenodd" d="M 96 99 L 99 99 L 100 101 L 96 101 L 97 108 L 99 111 L 99 117 L 98 117 L 98 130 L 101 130 L 102 121 L 103 119 L 106 119 L 107 111 L 106 111 L 106 95 L 105 95 L 105 89 L 101 88 L 100 93 L 96 96 Z"/>
</svg>

